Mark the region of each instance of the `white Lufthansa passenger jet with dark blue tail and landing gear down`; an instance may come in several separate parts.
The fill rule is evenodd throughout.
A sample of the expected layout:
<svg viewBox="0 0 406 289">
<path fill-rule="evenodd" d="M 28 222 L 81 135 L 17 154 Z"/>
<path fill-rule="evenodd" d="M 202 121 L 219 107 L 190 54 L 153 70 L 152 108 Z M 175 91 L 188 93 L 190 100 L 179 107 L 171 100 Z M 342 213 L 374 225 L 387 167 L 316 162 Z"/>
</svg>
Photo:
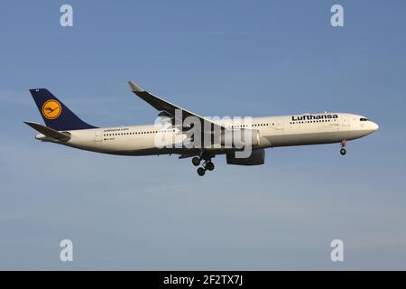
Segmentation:
<svg viewBox="0 0 406 289">
<path fill-rule="evenodd" d="M 39 134 L 37 140 L 54 144 L 67 145 L 81 150 L 102 154 L 118 155 L 161 155 L 179 154 L 179 158 L 191 158 L 193 165 L 198 167 L 198 175 L 213 171 L 215 165 L 212 158 L 217 154 L 226 154 L 226 163 L 235 165 L 260 165 L 265 161 L 265 149 L 281 146 L 308 144 L 341 144 L 340 154 L 346 154 L 347 141 L 355 140 L 374 133 L 379 126 L 364 116 L 348 113 L 315 113 L 280 117 L 252 117 L 248 123 L 237 122 L 227 118 L 220 120 L 200 117 L 182 107 L 159 98 L 129 81 L 132 92 L 159 112 L 159 117 L 166 119 L 166 126 L 157 128 L 147 126 L 115 126 L 97 127 L 77 117 L 48 89 L 30 89 L 46 126 L 35 122 L 24 122 Z M 180 114 L 178 113 L 180 112 Z M 200 146 L 156 144 L 158 136 L 165 136 L 170 144 L 193 141 L 197 135 L 189 135 L 193 126 L 185 126 L 187 117 L 195 117 L 201 124 L 209 125 L 201 133 L 201 139 L 210 138 Z M 178 123 L 178 125 L 176 125 Z M 180 125 L 179 125 L 180 123 Z M 206 126 L 205 126 L 206 127 Z M 214 128 L 219 129 L 221 137 L 214 142 Z M 236 157 L 241 147 L 226 144 L 225 135 L 237 132 L 250 132 L 249 143 L 251 154 L 244 158 Z M 180 137 L 180 138 L 179 138 Z M 177 144 L 178 144 L 177 143 Z M 247 143 L 248 144 L 248 143 Z M 202 164 L 200 166 L 200 164 Z"/>
</svg>

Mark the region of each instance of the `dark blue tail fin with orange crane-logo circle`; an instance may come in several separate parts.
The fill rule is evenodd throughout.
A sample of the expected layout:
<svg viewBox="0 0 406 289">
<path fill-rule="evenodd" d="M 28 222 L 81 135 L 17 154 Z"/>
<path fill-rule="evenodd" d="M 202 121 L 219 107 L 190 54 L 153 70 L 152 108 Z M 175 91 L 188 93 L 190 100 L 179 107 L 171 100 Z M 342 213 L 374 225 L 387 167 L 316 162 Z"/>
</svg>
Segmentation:
<svg viewBox="0 0 406 289">
<path fill-rule="evenodd" d="M 30 89 L 46 126 L 55 130 L 96 128 L 78 118 L 68 107 L 55 98 L 48 89 Z"/>
</svg>

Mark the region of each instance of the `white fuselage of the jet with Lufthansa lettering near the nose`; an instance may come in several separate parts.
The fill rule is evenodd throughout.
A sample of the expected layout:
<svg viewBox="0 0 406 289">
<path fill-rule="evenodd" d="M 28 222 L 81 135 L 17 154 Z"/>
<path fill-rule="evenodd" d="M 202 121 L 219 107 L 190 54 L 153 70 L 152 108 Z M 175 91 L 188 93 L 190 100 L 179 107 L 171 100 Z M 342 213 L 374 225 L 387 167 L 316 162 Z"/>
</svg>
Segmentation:
<svg viewBox="0 0 406 289">
<path fill-rule="evenodd" d="M 337 116 L 330 117 L 327 116 Z M 364 120 L 361 120 L 364 119 Z M 228 128 L 240 128 L 232 120 L 219 121 L 217 124 Z M 268 148 L 306 144 L 334 144 L 344 140 L 370 135 L 378 126 L 365 117 L 345 113 L 304 114 L 281 117 L 253 117 L 247 129 L 259 131 L 260 142 L 257 148 Z M 71 135 L 68 142 L 62 143 L 44 135 L 36 138 L 52 141 L 71 147 L 104 154 L 152 155 L 152 154 L 188 154 L 187 148 L 160 148 L 156 138 L 165 135 L 172 142 L 186 138 L 178 128 L 159 129 L 150 126 L 119 126 L 67 131 Z M 216 154 L 226 154 L 226 150 L 205 147 Z"/>
</svg>

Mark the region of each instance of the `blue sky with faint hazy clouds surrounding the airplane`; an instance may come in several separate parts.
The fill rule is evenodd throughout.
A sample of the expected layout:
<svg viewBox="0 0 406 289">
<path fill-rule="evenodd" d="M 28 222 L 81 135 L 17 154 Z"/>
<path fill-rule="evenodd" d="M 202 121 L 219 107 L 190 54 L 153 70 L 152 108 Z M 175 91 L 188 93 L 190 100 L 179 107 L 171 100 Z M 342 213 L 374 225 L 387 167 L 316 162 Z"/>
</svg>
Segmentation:
<svg viewBox="0 0 406 289">
<path fill-rule="evenodd" d="M 60 27 L 60 5 L 74 27 Z M 330 25 L 330 7 L 345 27 Z M 2 1 L 0 269 L 406 269 L 404 1 Z M 380 130 L 199 178 L 176 156 L 41 144 L 28 89 L 96 126 L 152 123 L 143 88 L 204 116 L 339 111 Z M 59 260 L 61 239 L 73 263 Z M 345 262 L 330 261 L 330 241 Z"/>
</svg>

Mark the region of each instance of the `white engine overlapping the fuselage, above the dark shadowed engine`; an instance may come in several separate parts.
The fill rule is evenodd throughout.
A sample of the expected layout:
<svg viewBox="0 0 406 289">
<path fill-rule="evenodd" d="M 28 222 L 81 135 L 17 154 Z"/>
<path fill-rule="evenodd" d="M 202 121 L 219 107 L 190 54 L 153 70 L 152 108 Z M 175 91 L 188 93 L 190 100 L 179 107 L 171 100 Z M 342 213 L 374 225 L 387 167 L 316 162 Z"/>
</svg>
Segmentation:
<svg viewBox="0 0 406 289">
<path fill-rule="evenodd" d="M 260 134 L 256 129 L 226 130 L 221 135 L 221 145 L 242 148 L 245 145 L 260 144 Z"/>
</svg>

